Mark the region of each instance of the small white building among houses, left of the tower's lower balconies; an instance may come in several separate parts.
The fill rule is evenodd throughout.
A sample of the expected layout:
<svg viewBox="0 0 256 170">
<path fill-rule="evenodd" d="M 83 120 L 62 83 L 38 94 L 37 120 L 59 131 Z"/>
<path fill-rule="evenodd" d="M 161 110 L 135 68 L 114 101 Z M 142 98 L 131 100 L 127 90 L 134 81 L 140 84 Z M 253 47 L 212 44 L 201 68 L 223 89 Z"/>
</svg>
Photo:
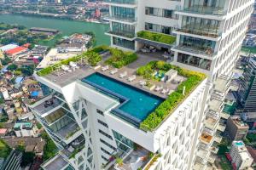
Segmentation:
<svg viewBox="0 0 256 170">
<path fill-rule="evenodd" d="M 37 133 L 37 127 L 31 122 L 16 122 L 14 130 L 17 137 L 34 137 Z"/>
</svg>

